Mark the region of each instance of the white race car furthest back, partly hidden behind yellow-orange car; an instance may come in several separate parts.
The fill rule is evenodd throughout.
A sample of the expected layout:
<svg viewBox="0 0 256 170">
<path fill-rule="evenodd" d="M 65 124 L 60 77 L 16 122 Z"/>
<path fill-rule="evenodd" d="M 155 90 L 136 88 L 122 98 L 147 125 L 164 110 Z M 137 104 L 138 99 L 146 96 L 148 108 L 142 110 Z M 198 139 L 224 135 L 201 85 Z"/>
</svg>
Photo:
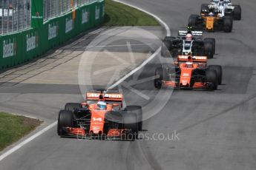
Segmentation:
<svg viewBox="0 0 256 170">
<path fill-rule="evenodd" d="M 241 20 L 242 9 L 238 4 L 232 4 L 231 0 L 211 0 L 210 4 L 201 5 L 201 13 L 207 14 L 213 9 L 220 16 L 232 16 L 234 20 Z"/>
</svg>

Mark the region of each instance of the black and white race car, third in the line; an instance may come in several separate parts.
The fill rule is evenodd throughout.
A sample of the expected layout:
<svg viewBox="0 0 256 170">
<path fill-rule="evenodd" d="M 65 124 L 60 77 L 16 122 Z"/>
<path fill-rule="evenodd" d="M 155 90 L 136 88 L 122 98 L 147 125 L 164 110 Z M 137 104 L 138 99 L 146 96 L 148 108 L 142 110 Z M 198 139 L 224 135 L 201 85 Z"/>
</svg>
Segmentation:
<svg viewBox="0 0 256 170">
<path fill-rule="evenodd" d="M 202 31 L 179 30 L 177 37 L 165 37 L 162 44 L 163 57 L 177 58 L 178 55 L 197 55 L 213 58 L 215 39 L 204 38 Z"/>
</svg>

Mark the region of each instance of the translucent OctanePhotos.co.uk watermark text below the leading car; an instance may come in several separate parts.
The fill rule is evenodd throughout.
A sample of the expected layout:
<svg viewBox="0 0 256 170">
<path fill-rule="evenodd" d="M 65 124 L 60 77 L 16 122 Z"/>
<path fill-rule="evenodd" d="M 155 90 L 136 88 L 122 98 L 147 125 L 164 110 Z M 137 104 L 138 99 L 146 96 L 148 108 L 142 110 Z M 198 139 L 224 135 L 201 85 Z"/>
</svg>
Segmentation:
<svg viewBox="0 0 256 170">
<path fill-rule="evenodd" d="M 134 138 L 135 137 L 135 138 Z M 143 141 L 180 141 L 180 133 L 177 131 L 170 133 L 138 133 L 127 134 L 120 136 L 108 136 L 108 135 L 79 135 L 76 136 L 77 140 L 143 140 Z"/>
</svg>

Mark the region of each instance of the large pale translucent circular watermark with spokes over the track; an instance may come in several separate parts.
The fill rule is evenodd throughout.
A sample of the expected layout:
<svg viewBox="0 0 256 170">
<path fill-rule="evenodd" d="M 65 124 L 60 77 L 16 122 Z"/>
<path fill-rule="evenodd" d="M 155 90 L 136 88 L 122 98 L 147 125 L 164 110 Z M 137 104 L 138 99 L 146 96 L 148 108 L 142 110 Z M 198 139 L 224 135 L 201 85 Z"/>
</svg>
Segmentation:
<svg viewBox="0 0 256 170">
<path fill-rule="evenodd" d="M 143 120 L 157 115 L 173 92 L 154 88 L 155 69 L 172 63 L 172 58 L 165 61 L 154 54 L 157 50 L 160 53 L 161 44 L 160 38 L 140 27 L 111 28 L 100 34 L 88 45 L 79 63 L 81 94 L 99 86 L 118 89 L 124 93 L 126 106 L 142 106 Z M 128 74 L 131 76 L 122 80 Z"/>
</svg>

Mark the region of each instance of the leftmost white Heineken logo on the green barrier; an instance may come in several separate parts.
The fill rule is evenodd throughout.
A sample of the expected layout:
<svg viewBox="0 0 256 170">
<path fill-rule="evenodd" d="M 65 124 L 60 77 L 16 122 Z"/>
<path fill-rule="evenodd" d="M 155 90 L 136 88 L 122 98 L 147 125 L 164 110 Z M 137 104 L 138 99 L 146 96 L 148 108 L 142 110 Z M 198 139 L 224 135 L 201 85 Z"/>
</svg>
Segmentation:
<svg viewBox="0 0 256 170">
<path fill-rule="evenodd" d="M 16 39 L 3 41 L 3 58 L 8 58 L 16 55 Z"/>
</svg>

